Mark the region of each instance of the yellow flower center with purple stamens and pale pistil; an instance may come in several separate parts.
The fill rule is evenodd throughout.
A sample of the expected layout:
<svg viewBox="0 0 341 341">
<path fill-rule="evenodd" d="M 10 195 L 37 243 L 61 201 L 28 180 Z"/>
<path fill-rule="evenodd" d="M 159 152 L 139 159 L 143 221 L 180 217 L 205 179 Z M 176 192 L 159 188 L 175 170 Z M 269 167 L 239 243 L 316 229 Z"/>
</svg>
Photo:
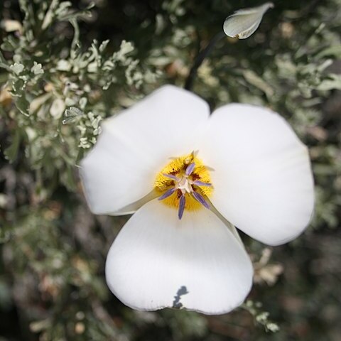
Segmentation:
<svg viewBox="0 0 341 341">
<path fill-rule="evenodd" d="M 183 217 L 184 210 L 199 210 L 210 208 L 206 197 L 212 194 L 210 172 L 202 161 L 190 153 L 180 156 L 168 163 L 154 182 L 156 192 L 160 193 L 158 200 L 168 206 L 178 209 L 178 217 Z"/>
</svg>

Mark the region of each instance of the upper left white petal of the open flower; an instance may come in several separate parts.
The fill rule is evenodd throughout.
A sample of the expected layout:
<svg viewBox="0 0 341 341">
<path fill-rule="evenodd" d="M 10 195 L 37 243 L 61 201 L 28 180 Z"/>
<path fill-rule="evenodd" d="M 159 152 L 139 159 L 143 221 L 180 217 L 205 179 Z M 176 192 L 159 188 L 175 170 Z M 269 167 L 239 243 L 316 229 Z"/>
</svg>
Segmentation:
<svg viewBox="0 0 341 341">
<path fill-rule="evenodd" d="M 193 151 L 193 134 L 207 122 L 205 101 L 165 86 L 117 117 L 104 120 L 96 146 L 81 162 L 92 212 L 123 214 L 153 190 L 153 181 L 172 156 Z"/>
</svg>

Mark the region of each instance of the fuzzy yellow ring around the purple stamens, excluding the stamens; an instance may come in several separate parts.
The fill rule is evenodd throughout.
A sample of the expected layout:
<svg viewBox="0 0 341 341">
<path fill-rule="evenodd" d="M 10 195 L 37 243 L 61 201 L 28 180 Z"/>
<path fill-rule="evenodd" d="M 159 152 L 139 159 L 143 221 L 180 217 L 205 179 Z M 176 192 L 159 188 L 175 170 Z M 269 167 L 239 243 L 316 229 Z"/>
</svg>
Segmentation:
<svg viewBox="0 0 341 341">
<path fill-rule="evenodd" d="M 190 175 L 186 175 L 186 168 L 188 168 L 191 163 L 195 163 L 195 168 L 193 169 L 192 173 L 190 173 Z M 212 194 L 212 185 L 200 186 L 193 184 L 195 180 L 207 184 L 211 183 L 210 172 L 208 171 L 207 166 L 205 166 L 200 158 L 197 158 L 194 153 L 190 153 L 189 155 L 180 156 L 173 159 L 170 163 L 168 163 L 167 166 L 161 169 L 160 173 L 156 175 L 154 188 L 158 193 L 160 193 L 160 195 L 163 195 L 163 193 L 166 193 L 167 190 L 170 190 L 171 188 L 177 186 L 177 181 L 168 178 L 167 176 L 165 176 L 165 174 L 174 175 L 179 179 L 188 179 L 188 182 L 191 184 L 190 190 L 199 193 L 204 197 L 210 197 L 210 195 Z M 178 208 L 180 201 L 179 199 L 183 194 L 184 192 L 182 192 L 180 189 L 177 189 L 172 195 L 163 199 L 162 202 L 164 202 L 168 206 Z M 202 207 L 200 202 L 195 200 L 191 193 L 186 191 L 184 195 L 185 210 L 198 210 L 200 207 Z"/>
</svg>

